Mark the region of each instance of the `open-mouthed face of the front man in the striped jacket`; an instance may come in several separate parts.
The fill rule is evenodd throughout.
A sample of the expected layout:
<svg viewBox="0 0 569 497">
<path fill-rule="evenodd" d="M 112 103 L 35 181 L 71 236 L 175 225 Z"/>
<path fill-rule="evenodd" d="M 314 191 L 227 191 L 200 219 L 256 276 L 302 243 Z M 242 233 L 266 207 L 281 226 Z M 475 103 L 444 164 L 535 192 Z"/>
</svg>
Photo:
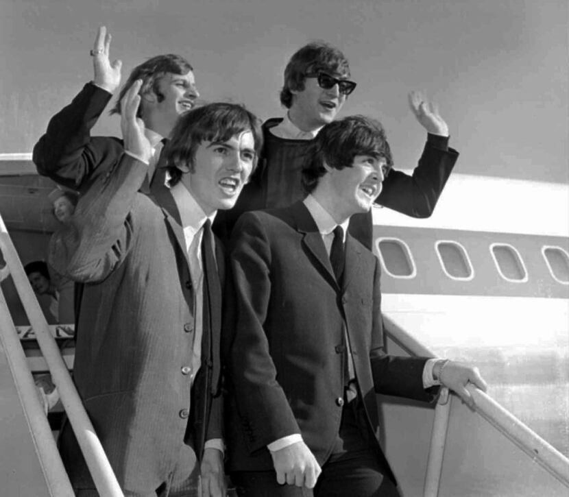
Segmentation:
<svg viewBox="0 0 569 497">
<path fill-rule="evenodd" d="M 182 182 L 206 215 L 230 209 L 253 169 L 255 141 L 250 130 L 228 141 L 202 141 L 195 151 L 193 172 L 182 174 Z"/>
</svg>

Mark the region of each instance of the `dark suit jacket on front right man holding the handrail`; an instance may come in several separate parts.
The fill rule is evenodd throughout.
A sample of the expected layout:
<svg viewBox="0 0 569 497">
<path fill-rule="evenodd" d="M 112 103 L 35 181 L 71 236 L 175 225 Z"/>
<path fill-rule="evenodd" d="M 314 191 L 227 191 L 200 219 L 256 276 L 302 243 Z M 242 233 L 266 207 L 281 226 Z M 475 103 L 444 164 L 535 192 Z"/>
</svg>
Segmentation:
<svg viewBox="0 0 569 497">
<path fill-rule="evenodd" d="M 342 411 L 344 327 L 376 437 L 376 393 L 432 399 L 422 385 L 426 359 L 385 354 L 380 266 L 349 234 L 342 288 L 302 202 L 241 216 L 230 260 L 237 288 L 237 319 L 228 326 L 231 470 L 272 469 L 267 444 L 293 433 L 326 461 Z"/>
</svg>

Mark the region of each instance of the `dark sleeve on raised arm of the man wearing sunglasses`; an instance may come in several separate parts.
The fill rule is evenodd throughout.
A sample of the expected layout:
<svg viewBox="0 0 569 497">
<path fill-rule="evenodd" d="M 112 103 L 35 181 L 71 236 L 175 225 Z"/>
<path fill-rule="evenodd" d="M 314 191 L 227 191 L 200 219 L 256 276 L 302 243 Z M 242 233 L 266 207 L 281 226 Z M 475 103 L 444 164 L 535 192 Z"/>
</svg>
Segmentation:
<svg viewBox="0 0 569 497">
<path fill-rule="evenodd" d="M 458 157 L 446 136 L 428 134 L 413 175 L 389 171 L 376 203 L 411 217 L 431 216 Z"/>
</svg>

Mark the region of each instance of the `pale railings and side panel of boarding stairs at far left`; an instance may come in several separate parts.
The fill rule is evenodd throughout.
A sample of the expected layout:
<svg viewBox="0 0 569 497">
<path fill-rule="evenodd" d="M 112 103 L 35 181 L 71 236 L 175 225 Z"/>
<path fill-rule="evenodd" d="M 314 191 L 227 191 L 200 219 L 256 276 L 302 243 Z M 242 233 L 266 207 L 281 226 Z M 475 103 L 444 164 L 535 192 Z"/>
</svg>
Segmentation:
<svg viewBox="0 0 569 497">
<path fill-rule="evenodd" d="M 93 476 L 93 481 L 101 496 L 121 497 L 123 493 L 114 477 L 112 468 L 104 453 L 95 430 L 73 385 L 73 380 L 62 359 L 55 339 L 38 304 L 32 287 L 8 235 L 3 219 L 0 217 L 0 250 L 5 260 L 1 279 L 12 276 L 20 300 L 32 325 L 51 378 L 56 385 L 69 422 Z M 18 332 L 10 317 L 10 311 L 0 292 L 0 452 L 2 455 L 3 481 L 0 481 L 0 494 L 6 496 L 52 497 L 73 496 L 71 483 L 60 459 L 56 441 L 40 402 L 38 390 L 29 369 Z M 8 374 L 10 372 L 10 374 Z M 10 378 L 11 376 L 11 378 Z M 12 385 L 7 385 L 12 381 Z M 16 393 L 17 395 L 14 395 Z M 19 399 L 16 404 L 14 400 Z M 22 433 L 23 420 L 28 433 Z M 29 461 L 22 451 L 27 451 L 32 442 L 37 461 L 45 482 L 38 481 L 37 466 L 19 465 L 20 460 Z M 10 464 L 10 461 L 14 461 Z M 43 485 L 41 484 L 43 483 Z"/>
</svg>

